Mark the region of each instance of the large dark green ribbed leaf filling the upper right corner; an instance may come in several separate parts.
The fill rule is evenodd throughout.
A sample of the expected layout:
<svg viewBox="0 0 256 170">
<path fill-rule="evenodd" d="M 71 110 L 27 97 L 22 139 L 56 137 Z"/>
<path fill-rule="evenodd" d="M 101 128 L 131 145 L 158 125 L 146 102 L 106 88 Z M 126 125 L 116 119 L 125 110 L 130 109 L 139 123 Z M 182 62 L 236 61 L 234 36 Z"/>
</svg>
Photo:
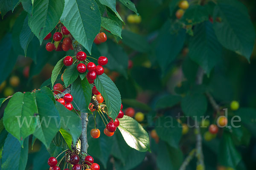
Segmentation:
<svg viewBox="0 0 256 170">
<path fill-rule="evenodd" d="M 237 8 L 233 1 L 228 2 L 220 2 L 214 8 L 214 20 L 221 17 L 221 22 L 213 23 L 215 34 L 221 45 L 249 60 L 256 37 L 255 29 L 244 5 L 240 3 L 241 7 Z"/>
</svg>

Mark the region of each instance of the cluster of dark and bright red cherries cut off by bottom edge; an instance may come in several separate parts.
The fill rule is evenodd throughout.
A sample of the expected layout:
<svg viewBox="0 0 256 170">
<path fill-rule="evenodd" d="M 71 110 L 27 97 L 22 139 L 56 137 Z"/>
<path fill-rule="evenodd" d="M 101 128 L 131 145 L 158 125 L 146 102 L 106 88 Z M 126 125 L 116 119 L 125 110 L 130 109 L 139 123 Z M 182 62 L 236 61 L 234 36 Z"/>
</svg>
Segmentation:
<svg viewBox="0 0 256 170">
<path fill-rule="evenodd" d="M 82 164 L 79 164 L 79 160 L 79 156 L 73 154 L 69 157 L 68 160 L 66 160 L 66 162 L 73 165 L 72 170 L 82 170 L 82 167 L 86 167 L 85 170 L 99 170 L 99 164 L 94 163 L 92 156 L 86 156 Z M 55 157 L 50 157 L 48 159 L 48 165 L 50 166 L 49 170 L 61 170 L 61 168 L 58 167 L 57 164 L 58 161 Z M 66 168 L 64 170 L 70 169 Z"/>
</svg>

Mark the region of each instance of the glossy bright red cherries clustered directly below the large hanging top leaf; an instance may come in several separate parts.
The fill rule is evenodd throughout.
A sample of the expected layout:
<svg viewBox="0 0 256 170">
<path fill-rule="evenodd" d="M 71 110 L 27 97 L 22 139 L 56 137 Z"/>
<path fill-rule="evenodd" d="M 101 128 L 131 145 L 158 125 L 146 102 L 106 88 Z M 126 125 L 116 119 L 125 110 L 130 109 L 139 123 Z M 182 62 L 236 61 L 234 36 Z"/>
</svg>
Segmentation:
<svg viewBox="0 0 256 170">
<path fill-rule="evenodd" d="M 88 62 L 86 60 L 87 55 L 83 51 L 79 51 L 76 54 L 76 59 L 80 62 L 76 68 L 79 73 L 84 73 L 88 70 L 86 78 L 90 84 L 94 82 L 97 76 L 102 75 L 104 73 L 104 68 L 102 65 L 106 65 L 108 63 L 107 57 L 99 57 L 98 64 L 95 65 L 94 62 Z M 73 65 L 73 57 L 67 56 L 63 60 L 64 65 L 70 66 Z"/>
</svg>

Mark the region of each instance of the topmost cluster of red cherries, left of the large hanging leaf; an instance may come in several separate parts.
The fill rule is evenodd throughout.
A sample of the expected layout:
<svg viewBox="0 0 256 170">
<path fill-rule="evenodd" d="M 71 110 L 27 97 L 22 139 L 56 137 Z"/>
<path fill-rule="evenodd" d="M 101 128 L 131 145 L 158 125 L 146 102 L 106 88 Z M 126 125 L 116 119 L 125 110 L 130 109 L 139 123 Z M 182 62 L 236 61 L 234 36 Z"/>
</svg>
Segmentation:
<svg viewBox="0 0 256 170">
<path fill-rule="evenodd" d="M 48 42 L 45 46 L 47 51 L 69 51 L 70 49 L 73 50 L 72 40 L 68 36 L 70 31 L 67 30 L 65 26 L 62 26 L 61 32 L 55 32 L 53 34 L 52 40 L 55 41 L 55 44 L 52 42 Z M 44 40 L 48 40 L 52 37 L 52 33 L 49 33 Z M 61 42 L 61 40 L 63 41 Z M 56 46 L 55 46 L 56 45 Z"/>
</svg>

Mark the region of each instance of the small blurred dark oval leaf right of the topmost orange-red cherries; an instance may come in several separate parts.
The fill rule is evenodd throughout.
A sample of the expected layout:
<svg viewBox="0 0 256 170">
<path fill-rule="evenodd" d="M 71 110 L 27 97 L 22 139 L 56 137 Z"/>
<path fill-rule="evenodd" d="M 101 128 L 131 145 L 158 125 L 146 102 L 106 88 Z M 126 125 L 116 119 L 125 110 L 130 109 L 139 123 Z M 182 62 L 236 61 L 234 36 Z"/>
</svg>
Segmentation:
<svg viewBox="0 0 256 170">
<path fill-rule="evenodd" d="M 149 50 L 149 44 L 143 36 L 128 30 L 122 30 L 122 42 L 139 52 L 148 52 Z"/>
</svg>

